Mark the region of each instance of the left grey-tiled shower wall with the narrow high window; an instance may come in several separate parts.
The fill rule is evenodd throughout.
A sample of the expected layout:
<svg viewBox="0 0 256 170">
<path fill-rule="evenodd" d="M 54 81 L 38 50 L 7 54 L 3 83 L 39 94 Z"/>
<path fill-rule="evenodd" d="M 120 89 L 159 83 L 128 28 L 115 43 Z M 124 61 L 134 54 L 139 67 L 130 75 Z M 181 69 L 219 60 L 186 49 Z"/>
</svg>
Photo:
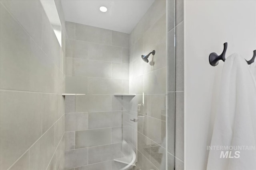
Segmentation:
<svg viewBox="0 0 256 170">
<path fill-rule="evenodd" d="M 40 1 L 0 8 L 0 169 L 63 169 L 65 41 L 60 47 Z"/>
</svg>

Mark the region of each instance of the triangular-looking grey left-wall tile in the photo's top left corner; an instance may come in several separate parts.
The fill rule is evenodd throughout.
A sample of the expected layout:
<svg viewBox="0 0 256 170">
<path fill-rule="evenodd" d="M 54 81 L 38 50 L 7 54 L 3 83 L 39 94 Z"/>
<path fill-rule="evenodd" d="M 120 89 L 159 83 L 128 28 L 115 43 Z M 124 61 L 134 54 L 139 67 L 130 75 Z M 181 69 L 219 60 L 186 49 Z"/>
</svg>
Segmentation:
<svg viewBox="0 0 256 170">
<path fill-rule="evenodd" d="M 29 35 L 42 45 L 42 7 L 40 1 L 9 1 L 2 0 L 2 4 L 16 18 L 16 20 L 26 29 Z M 22 15 L 20 15 L 22 13 Z M 33 15 L 31 15 L 33 14 Z M 24 20 L 26 18 L 26 20 Z M 40 33 L 38 33 L 40 32 Z"/>
</svg>

